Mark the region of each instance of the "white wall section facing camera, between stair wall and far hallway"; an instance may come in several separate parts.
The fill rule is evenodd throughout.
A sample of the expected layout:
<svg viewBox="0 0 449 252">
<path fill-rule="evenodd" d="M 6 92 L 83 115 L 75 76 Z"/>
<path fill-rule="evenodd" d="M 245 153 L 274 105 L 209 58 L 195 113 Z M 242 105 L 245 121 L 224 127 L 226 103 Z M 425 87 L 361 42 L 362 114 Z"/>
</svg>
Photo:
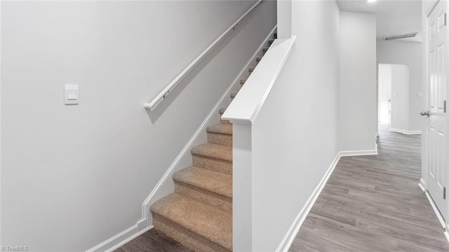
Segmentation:
<svg viewBox="0 0 449 252">
<path fill-rule="evenodd" d="M 376 18 L 340 13 L 340 150 L 375 150 Z"/>
</svg>

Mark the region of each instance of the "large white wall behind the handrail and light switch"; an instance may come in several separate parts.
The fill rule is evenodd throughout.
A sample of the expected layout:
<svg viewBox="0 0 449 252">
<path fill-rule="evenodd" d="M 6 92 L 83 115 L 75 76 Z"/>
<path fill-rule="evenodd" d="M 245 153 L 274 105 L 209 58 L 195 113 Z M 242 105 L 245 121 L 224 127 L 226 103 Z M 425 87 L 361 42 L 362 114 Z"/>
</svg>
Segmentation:
<svg viewBox="0 0 449 252">
<path fill-rule="evenodd" d="M 143 104 L 251 5 L 2 2 L 2 244 L 85 251 L 135 225 L 149 192 L 276 24 L 276 3 L 257 7 L 156 112 Z M 79 105 L 63 105 L 67 83 L 79 84 Z"/>
</svg>

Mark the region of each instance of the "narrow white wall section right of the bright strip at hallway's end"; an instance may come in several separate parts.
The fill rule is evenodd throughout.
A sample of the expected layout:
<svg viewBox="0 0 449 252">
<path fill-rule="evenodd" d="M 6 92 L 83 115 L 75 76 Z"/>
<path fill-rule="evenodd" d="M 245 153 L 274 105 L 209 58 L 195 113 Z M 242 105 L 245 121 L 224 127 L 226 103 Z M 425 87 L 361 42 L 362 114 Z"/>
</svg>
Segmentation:
<svg viewBox="0 0 449 252">
<path fill-rule="evenodd" d="M 391 65 L 391 129 L 408 131 L 408 67 Z"/>
</svg>

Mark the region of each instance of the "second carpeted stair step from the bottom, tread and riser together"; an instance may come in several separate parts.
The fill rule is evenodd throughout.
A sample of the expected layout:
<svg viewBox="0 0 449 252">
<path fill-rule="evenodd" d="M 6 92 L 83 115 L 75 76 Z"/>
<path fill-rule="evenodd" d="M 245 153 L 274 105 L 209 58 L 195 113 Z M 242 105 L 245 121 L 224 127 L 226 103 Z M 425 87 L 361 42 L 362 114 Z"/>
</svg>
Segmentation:
<svg viewBox="0 0 449 252">
<path fill-rule="evenodd" d="M 175 192 L 232 212 L 232 175 L 190 166 L 173 174 Z"/>
</svg>

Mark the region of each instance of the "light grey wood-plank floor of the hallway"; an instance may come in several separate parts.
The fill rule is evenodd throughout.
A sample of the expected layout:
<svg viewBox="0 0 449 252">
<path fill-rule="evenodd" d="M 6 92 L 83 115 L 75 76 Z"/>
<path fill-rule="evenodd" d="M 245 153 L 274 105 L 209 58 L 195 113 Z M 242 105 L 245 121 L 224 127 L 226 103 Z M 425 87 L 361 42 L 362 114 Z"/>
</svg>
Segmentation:
<svg viewBox="0 0 449 252">
<path fill-rule="evenodd" d="M 290 251 L 449 251 L 421 178 L 421 135 L 380 128 L 379 155 L 343 157 Z"/>
</svg>

